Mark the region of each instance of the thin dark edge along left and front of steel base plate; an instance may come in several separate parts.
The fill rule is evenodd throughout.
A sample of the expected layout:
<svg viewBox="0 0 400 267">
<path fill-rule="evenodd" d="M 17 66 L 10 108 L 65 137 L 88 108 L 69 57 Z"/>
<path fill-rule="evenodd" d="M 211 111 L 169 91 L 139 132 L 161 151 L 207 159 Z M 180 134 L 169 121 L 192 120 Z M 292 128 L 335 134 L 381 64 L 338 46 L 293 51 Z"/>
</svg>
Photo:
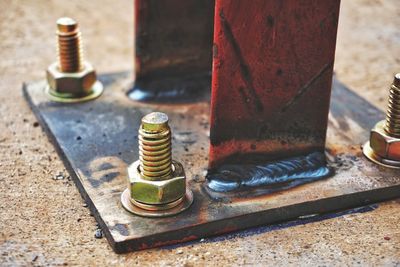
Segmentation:
<svg viewBox="0 0 400 267">
<path fill-rule="evenodd" d="M 344 85 L 342 86 L 345 87 Z M 196 225 L 183 228 L 178 231 L 169 231 L 161 234 L 158 233 L 143 238 L 115 241 L 111 235 L 109 228 L 107 227 L 105 222 L 101 219 L 101 216 L 98 213 L 94 203 L 91 201 L 89 195 L 86 193 L 71 163 L 68 161 L 66 155 L 62 151 L 61 146 L 57 142 L 57 139 L 52 134 L 48 125 L 41 117 L 40 110 L 32 102 L 32 99 L 28 92 L 28 84 L 23 83 L 22 91 L 24 98 L 27 100 L 29 104 L 29 107 L 32 109 L 33 113 L 35 114 L 35 117 L 38 119 L 43 130 L 48 135 L 48 140 L 54 145 L 67 171 L 73 178 L 73 181 L 77 186 L 79 193 L 81 194 L 85 202 L 88 204 L 90 211 L 92 212 L 95 220 L 99 223 L 112 249 L 114 250 L 114 252 L 118 254 L 198 240 L 204 237 L 221 235 L 224 233 L 244 230 L 261 225 L 275 224 L 283 221 L 297 219 L 299 216 L 304 216 L 309 214 L 322 215 L 325 213 L 342 211 L 349 208 L 364 206 L 400 197 L 400 185 L 396 185 L 396 186 L 368 190 L 347 195 L 340 195 L 333 198 L 325 198 L 320 200 L 303 202 L 299 204 L 285 206 L 284 208 L 281 207 L 281 208 L 259 211 L 255 213 L 248 213 L 245 215 L 237 216 L 235 218 L 227 218 L 205 223 L 207 227 L 204 227 L 205 224 L 202 224 L 203 227 L 199 227 L 198 225 Z M 354 94 L 348 89 L 347 91 Z M 307 203 L 307 211 L 304 208 L 305 203 Z M 282 209 L 285 209 L 285 212 L 282 212 Z M 290 211 L 288 212 L 288 210 Z M 287 217 L 288 213 L 292 214 L 292 216 Z"/>
</svg>

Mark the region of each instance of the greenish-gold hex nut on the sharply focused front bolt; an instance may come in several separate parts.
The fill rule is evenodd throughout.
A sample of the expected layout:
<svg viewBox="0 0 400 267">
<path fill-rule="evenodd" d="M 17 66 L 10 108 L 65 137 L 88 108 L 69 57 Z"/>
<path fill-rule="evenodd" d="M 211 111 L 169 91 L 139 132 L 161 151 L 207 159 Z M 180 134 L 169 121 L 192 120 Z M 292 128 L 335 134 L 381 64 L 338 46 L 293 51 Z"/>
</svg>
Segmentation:
<svg viewBox="0 0 400 267">
<path fill-rule="evenodd" d="M 171 179 L 150 181 L 143 179 L 139 170 L 140 161 L 128 167 L 128 178 L 131 198 L 135 201 L 159 205 L 178 200 L 186 193 L 186 176 L 180 163 L 172 162 Z"/>
</svg>

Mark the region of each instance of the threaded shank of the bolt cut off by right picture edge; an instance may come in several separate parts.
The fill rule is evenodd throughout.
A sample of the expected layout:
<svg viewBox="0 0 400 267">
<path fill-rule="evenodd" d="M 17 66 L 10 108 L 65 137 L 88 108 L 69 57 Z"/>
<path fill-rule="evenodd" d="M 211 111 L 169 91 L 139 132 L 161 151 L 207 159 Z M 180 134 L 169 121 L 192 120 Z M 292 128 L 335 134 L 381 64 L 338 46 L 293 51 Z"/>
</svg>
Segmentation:
<svg viewBox="0 0 400 267">
<path fill-rule="evenodd" d="M 395 75 L 389 92 L 385 131 L 390 136 L 400 137 L 400 73 Z"/>
</svg>

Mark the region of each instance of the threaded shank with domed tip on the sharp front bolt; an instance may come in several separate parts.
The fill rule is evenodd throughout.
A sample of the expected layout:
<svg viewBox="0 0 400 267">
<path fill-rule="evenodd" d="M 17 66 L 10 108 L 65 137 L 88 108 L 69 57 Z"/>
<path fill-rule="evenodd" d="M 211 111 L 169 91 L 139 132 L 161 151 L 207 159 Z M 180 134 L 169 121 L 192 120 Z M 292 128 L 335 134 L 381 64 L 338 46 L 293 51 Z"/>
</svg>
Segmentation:
<svg viewBox="0 0 400 267">
<path fill-rule="evenodd" d="M 139 160 L 144 179 L 161 181 L 171 176 L 171 131 L 166 114 L 153 112 L 142 118 L 139 129 Z"/>
</svg>

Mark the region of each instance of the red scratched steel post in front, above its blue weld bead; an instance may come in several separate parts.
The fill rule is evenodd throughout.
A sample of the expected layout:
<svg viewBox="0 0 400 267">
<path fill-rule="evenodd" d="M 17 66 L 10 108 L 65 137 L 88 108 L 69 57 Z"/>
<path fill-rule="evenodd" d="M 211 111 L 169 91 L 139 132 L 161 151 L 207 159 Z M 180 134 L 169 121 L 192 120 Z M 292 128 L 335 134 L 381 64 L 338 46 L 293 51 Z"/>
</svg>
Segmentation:
<svg viewBox="0 0 400 267">
<path fill-rule="evenodd" d="M 210 162 L 323 152 L 340 0 L 216 0 Z"/>
</svg>

